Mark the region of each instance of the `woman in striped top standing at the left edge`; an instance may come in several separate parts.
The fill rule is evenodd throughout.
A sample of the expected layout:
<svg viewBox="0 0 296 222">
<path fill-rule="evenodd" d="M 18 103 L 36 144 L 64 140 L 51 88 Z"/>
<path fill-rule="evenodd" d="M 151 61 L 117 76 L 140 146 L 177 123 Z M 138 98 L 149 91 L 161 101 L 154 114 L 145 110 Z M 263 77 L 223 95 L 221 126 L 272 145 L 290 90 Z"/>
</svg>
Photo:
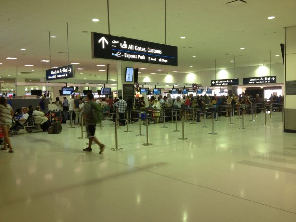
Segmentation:
<svg viewBox="0 0 296 222">
<path fill-rule="evenodd" d="M 4 96 L 0 97 L 0 127 L 4 134 L 4 147 L 1 150 L 6 150 L 8 144 L 9 152 L 12 153 L 12 146 L 9 138 L 9 129 L 12 123 L 13 110 L 12 107 L 7 104 L 6 98 Z"/>
</svg>

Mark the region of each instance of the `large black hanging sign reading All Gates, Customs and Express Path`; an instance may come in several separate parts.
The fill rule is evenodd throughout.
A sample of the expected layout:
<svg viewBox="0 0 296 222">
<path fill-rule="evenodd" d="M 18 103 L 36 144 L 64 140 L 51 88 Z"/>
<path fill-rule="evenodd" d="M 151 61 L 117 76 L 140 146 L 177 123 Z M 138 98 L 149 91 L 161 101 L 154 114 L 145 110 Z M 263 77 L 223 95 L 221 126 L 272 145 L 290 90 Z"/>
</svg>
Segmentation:
<svg viewBox="0 0 296 222">
<path fill-rule="evenodd" d="M 176 46 L 92 32 L 91 48 L 92 58 L 178 66 Z"/>
</svg>

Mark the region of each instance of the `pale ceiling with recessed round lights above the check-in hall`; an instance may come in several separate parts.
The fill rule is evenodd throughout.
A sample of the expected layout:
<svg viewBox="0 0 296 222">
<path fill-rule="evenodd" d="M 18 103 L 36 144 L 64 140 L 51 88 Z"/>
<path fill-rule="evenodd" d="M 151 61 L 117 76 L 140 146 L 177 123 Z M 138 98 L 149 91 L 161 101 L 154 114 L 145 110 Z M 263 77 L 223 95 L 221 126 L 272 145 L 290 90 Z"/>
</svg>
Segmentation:
<svg viewBox="0 0 296 222">
<path fill-rule="evenodd" d="M 134 67 L 147 68 L 142 74 L 164 74 L 213 70 L 215 60 L 217 69 L 229 68 L 234 57 L 235 67 L 247 66 L 248 58 L 249 66 L 269 64 L 270 58 L 271 63 L 281 63 L 284 27 L 296 25 L 296 0 L 246 0 L 238 7 L 230 7 L 228 1 L 167 0 L 166 43 L 178 46 L 179 66 Z M 91 58 L 90 32 L 108 33 L 107 0 L 5 0 L 0 6 L 0 80 L 10 84 L 16 77 L 28 82 L 44 77 L 50 64 L 40 60 L 50 57 L 49 31 L 57 36 L 50 39 L 51 66 L 67 65 L 67 22 L 70 63 L 79 62 L 76 68 L 85 69 L 76 71 L 76 78 L 105 80 L 106 72 L 99 72 L 98 64 L 110 64 L 111 78 L 115 77 L 115 60 Z M 165 43 L 164 0 L 109 0 L 109 7 L 111 35 Z M 100 21 L 92 22 L 93 18 Z"/>
</svg>

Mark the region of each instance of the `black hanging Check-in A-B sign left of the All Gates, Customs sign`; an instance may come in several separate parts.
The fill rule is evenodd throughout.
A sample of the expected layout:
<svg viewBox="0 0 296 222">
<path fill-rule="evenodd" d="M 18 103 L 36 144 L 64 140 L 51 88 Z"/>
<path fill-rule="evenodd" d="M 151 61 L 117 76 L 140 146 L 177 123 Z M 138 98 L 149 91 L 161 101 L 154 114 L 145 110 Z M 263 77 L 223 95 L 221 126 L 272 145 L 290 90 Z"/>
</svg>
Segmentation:
<svg viewBox="0 0 296 222">
<path fill-rule="evenodd" d="M 61 66 L 58 68 L 46 70 L 46 80 L 73 78 L 73 76 L 75 76 L 73 65 Z"/>
</svg>

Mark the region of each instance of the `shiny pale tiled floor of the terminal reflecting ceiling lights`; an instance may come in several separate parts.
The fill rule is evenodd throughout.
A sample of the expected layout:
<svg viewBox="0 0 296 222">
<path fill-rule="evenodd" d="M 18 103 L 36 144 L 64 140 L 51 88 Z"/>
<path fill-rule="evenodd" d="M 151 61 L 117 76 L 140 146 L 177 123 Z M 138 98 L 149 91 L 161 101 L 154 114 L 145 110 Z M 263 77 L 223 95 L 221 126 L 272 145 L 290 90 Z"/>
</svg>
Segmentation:
<svg viewBox="0 0 296 222">
<path fill-rule="evenodd" d="M 61 134 L 12 137 L 15 153 L 0 152 L 0 222 L 296 222 L 295 134 L 283 133 L 281 113 L 264 126 L 222 117 L 151 124 L 149 142 L 115 130 L 110 121 L 96 135 L 107 145 L 82 152 L 81 128 Z M 181 130 L 181 122 L 178 123 Z M 142 133 L 146 134 L 145 127 Z"/>
</svg>

